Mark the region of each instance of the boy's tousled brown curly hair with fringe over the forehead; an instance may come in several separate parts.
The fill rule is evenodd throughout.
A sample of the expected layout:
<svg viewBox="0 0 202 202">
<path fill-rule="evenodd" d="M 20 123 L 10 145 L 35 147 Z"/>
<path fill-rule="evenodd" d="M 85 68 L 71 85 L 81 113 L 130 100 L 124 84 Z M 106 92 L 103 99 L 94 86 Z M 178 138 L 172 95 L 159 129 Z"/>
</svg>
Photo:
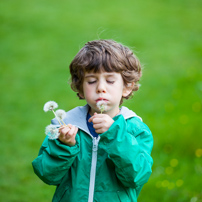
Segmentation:
<svg viewBox="0 0 202 202">
<path fill-rule="evenodd" d="M 95 40 L 85 44 L 77 53 L 70 66 L 71 88 L 83 94 L 83 80 L 86 72 L 117 72 L 120 73 L 125 86 L 132 84 L 132 91 L 124 97 L 131 97 L 133 91 L 139 89 L 138 81 L 142 76 L 138 58 L 126 46 L 113 40 Z M 121 100 L 122 103 L 122 100 Z"/>
</svg>

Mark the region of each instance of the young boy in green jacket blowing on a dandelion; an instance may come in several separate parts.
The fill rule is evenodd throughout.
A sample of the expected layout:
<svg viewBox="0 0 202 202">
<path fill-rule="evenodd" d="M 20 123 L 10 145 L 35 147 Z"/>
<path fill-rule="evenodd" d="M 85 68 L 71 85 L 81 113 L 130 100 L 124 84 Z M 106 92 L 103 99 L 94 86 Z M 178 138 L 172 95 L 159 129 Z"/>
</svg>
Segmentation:
<svg viewBox="0 0 202 202">
<path fill-rule="evenodd" d="M 137 201 L 152 172 L 153 138 L 141 118 L 120 105 L 138 90 L 138 59 L 115 41 L 91 41 L 70 73 L 72 89 L 87 105 L 67 112 L 69 125 L 60 127 L 58 139 L 45 139 L 33 161 L 35 173 L 57 186 L 55 202 Z"/>
</svg>

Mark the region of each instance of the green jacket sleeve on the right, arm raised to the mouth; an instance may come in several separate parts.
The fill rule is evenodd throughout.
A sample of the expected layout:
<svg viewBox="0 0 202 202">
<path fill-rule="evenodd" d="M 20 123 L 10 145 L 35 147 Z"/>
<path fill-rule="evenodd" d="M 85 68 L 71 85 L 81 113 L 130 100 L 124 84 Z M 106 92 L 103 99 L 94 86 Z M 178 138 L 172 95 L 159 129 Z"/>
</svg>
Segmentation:
<svg viewBox="0 0 202 202">
<path fill-rule="evenodd" d="M 100 145 L 114 162 L 116 175 L 122 184 L 139 190 L 148 181 L 152 172 L 151 131 L 137 117 L 126 122 L 120 115 L 114 120 L 109 130 L 100 135 Z"/>
</svg>

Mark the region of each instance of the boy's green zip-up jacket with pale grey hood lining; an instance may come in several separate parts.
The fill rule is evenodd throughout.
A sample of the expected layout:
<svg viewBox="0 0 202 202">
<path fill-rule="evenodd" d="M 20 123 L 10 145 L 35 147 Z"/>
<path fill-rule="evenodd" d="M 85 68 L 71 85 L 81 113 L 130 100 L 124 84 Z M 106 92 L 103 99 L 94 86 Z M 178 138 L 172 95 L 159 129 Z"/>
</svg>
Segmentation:
<svg viewBox="0 0 202 202">
<path fill-rule="evenodd" d="M 79 127 L 76 145 L 46 138 L 32 162 L 41 180 L 56 185 L 53 202 L 136 202 L 151 175 L 153 137 L 134 112 L 121 108 L 98 138 L 86 124 L 88 105 L 69 112 L 66 123 Z M 58 124 L 54 119 L 53 124 Z"/>
</svg>

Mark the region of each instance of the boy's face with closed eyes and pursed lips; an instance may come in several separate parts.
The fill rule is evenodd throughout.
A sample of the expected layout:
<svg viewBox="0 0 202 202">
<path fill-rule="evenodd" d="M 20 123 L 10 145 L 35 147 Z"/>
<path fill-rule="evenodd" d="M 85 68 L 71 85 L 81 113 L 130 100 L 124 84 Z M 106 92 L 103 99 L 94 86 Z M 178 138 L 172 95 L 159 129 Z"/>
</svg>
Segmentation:
<svg viewBox="0 0 202 202">
<path fill-rule="evenodd" d="M 131 91 L 130 91 L 131 92 Z M 125 88 L 122 76 L 116 72 L 100 72 L 100 73 L 85 73 L 83 82 L 83 98 L 86 99 L 90 106 L 90 115 L 95 112 L 100 113 L 97 107 L 98 101 L 104 101 L 106 111 L 110 117 L 114 117 L 119 113 L 119 104 L 122 96 L 127 96 L 129 93 Z"/>
</svg>

